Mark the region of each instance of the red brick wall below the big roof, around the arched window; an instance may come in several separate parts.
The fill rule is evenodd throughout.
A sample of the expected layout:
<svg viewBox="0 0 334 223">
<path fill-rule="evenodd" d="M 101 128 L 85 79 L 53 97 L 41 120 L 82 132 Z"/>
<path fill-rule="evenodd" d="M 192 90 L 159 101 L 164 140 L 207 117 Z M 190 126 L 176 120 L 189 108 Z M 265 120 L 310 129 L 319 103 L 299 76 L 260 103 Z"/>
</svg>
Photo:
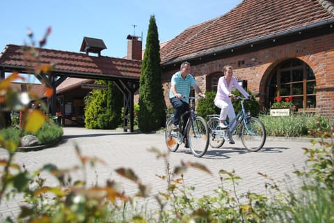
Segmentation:
<svg viewBox="0 0 334 223">
<path fill-rule="evenodd" d="M 234 77 L 246 79 L 248 89 L 253 93 L 260 93 L 258 99 L 262 107 L 265 107 L 271 71 L 276 68 L 278 63 L 293 58 L 301 59 L 307 63 L 315 73 L 319 114 L 334 118 L 334 34 L 237 56 L 230 52 L 228 58 L 191 66 L 191 73 L 195 76 L 200 89 L 205 91 L 207 75 L 221 72 L 223 66 L 229 64 L 234 68 Z M 238 63 L 238 61 L 244 61 L 244 63 Z M 168 99 L 170 78 L 178 70 L 180 67 L 163 73 L 164 96 L 168 107 L 171 106 Z"/>
</svg>

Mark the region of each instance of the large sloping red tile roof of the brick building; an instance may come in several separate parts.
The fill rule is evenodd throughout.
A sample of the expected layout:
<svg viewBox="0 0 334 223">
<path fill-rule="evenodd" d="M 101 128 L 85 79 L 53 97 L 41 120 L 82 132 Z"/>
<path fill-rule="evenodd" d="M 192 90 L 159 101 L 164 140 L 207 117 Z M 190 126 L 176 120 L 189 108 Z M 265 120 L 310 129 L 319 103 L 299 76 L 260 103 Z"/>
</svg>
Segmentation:
<svg viewBox="0 0 334 223">
<path fill-rule="evenodd" d="M 333 0 L 244 0 L 229 13 L 170 40 L 161 48 L 161 63 L 333 18 Z"/>
</svg>

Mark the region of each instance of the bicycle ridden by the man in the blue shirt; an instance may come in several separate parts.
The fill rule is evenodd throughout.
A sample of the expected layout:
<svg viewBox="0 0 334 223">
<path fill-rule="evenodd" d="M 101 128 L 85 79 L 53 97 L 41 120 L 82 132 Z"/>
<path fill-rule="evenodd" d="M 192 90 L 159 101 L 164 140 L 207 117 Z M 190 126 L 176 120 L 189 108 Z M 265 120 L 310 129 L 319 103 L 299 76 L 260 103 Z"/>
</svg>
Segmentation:
<svg viewBox="0 0 334 223">
<path fill-rule="evenodd" d="M 165 139 L 168 149 L 172 152 L 184 142 L 189 146 L 191 153 L 196 157 L 202 157 L 207 152 L 209 146 L 209 129 L 204 118 L 197 116 L 195 110 L 195 97 L 190 97 L 190 109 L 180 117 L 178 131 L 172 130 L 173 114 L 168 114 L 166 118 Z M 189 115 L 186 125 L 183 123 L 183 117 Z M 188 145 L 187 145 L 188 144 Z"/>
</svg>

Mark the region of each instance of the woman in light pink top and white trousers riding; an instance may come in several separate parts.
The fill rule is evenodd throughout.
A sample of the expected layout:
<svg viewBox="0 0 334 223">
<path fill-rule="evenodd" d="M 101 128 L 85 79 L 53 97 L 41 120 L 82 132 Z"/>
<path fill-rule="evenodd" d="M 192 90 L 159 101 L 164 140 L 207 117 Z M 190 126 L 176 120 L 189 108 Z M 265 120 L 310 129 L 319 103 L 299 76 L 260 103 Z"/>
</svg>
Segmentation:
<svg viewBox="0 0 334 223">
<path fill-rule="evenodd" d="M 231 98 L 234 98 L 234 95 L 231 93 L 232 88 L 236 88 L 242 93 L 245 98 L 251 98 L 249 95 L 237 82 L 237 79 L 232 77 L 233 68 L 232 66 L 223 67 L 224 76 L 220 77 L 218 80 L 217 93 L 214 98 L 214 105 L 221 109 L 221 114 L 219 115 L 220 123 L 219 127 L 221 129 L 227 128 L 225 125 L 226 117 L 232 120 L 235 117 L 234 107 L 232 105 Z M 234 144 L 232 135 L 230 136 L 230 144 Z"/>
</svg>

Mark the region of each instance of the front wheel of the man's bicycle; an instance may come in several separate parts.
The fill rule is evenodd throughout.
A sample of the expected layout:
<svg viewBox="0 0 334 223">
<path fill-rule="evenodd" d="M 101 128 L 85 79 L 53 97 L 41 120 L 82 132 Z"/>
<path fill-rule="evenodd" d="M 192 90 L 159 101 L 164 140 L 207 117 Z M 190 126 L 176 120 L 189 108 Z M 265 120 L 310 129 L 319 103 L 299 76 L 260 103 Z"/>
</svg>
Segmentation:
<svg viewBox="0 0 334 223">
<path fill-rule="evenodd" d="M 193 123 L 189 122 L 186 130 L 191 153 L 196 157 L 201 157 L 207 152 L 207 146 L 209 146 L 207 122 L 198 116 L 193 120 Z"/>
</svg>

